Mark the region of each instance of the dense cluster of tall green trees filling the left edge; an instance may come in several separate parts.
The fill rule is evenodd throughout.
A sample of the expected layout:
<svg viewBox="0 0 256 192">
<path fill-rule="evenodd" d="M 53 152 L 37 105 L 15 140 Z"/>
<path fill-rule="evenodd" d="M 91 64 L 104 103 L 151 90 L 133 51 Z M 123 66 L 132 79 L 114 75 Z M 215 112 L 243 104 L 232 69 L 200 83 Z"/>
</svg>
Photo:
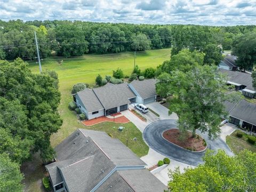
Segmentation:
<svg viewBox="0 0 256 192">
<path fill-rule="evenodd" d="M 0 191 L 22 191 L 19 166 L 37 151 L 44 162 L 53 159 L 59 103 L 54 71 L 32 74 L 21 59 L 0 61 Z"/>
</svg>

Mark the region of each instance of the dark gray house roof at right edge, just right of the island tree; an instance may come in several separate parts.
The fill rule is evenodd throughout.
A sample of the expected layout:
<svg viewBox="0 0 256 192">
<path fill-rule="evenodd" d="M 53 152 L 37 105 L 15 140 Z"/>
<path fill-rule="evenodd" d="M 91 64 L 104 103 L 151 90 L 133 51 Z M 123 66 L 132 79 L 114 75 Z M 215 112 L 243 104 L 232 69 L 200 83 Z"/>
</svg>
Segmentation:
<svg viewBox="0 0 256 192">
<path fill-rule="evenodd" d="M 256 105 L 244 99 L 238 102 L 224 102 L 229 115 L 256 125 Z"/>
</svg>

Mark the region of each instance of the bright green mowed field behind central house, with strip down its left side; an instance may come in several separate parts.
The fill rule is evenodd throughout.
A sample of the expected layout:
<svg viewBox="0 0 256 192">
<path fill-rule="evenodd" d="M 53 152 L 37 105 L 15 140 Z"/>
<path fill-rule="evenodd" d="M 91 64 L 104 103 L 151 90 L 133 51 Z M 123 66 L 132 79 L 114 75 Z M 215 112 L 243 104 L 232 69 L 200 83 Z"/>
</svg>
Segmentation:
<svg viewBox="0 0 256 192">
<path fill-rule="evenodd" d="M 137 52 L 136 64 L 143 70 L 148 67 L 156 68 L 163 61 L 170 59 L 171 49 L 150 50 Z M 33 73 L 39 73 L 38 63 L 30 62 L 30 69 Z M 58 145 L 71 132 L 77 128 L 85 128 L 79 123 L 73 111 L 68 109 L 68 103 L 73 100 L 71 89 L 76 83 L 94 84 L 98 74 L 102 77 L 112 75 L 112 71 L 118 67 L 124 71 L 125 75 L 130 75 L 134 65 L 134 52 L 124 52 L 116 54 L 86 54 L 75 58 L 46 58 L 42 61 L 43 71 L 55 70 L 59 75 L 59 89 L 61 92 L 61 103 L 59 112 L 63 119 L 63 124 L 58 133 L 52 135 L 52 146 Z"/>
</svg>

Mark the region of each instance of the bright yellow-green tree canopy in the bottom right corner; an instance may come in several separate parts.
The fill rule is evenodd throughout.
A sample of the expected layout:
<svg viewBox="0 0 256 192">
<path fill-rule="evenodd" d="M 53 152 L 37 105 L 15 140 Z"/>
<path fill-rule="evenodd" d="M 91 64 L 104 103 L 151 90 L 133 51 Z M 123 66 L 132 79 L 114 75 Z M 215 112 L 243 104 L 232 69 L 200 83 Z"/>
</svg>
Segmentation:
<svg viewBox="0 0 256 192">
<path fill-rule="evenodd" d="M 187 168 L 184 173 L 179 168 L 170 171 L 169 191 L 233 191 L 230 186 L 240 186 L 237 191 L 256 188 L 256 153 L 244 150 L 230 157 L 222 150 L 215 155 L 207 150 L 203 160 L 204 164 Z"/>
</svg>

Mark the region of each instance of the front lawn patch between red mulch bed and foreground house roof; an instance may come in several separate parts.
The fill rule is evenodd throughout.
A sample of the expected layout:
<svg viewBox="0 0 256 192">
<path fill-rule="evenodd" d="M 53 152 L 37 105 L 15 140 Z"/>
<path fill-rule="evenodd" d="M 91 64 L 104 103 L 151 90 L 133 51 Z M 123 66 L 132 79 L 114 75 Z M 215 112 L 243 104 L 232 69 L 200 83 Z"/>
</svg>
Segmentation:
<svg viewBox="0 0 256 192">
<path fill-rule="evenodd" d="M 123 131 L 118 131 L 118 127 L 123 126 Z M 84 126 L 84 129 L 105 131 L 106 133 L 113 136 L 113 138 L 119 139 L 126 146 L 126 140 L 128 140 L 128 148 L 137 156 L 142 157 L 148 154 L 149 147 L 143 141 L 142 133 L 133 123 L 113 123 L 103 122 L 93 126 Z M 134 141 L 133 138 L 137 138 Z"/>
</svg>

